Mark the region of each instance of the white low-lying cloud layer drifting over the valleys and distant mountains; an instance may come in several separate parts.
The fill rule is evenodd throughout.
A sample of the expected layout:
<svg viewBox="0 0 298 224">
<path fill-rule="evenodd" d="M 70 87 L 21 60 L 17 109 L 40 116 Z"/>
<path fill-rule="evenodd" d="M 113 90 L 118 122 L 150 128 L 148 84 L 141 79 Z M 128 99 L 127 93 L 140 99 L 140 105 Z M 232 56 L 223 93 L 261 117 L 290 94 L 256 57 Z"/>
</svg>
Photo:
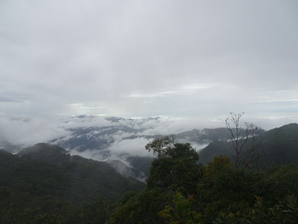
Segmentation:
<svg viewBox="0 0 298 224">
<path fill-rule="evenodd" d="M 80 140 L 84 137 L 84 144 L 89 142 L 92 145 L 93 142 L 101 142 L 98 143 L 100 148 L 89 148 L 83 152 L 84 155 L 90 152 L 90 155 L 99 160 L 102 160 L 104 156 L 98 154 L 98 150 L 105 152 L 110 158 L 116 158 L 123 154 L 150 156 L 144 147 L 152 139 L 145 136 L 179 134 L 192 129 L 224 127 L 225 118 L 160 117 L 158 119 L 120 119 L 118 121 L 116 119 L 112 122 L 108 120 L 107 116 L 33 117 L 0 113 L 0 147 L 3 148 L 7 144 L 13 145 L 14 148 L 10 150 L 16 152 L 22 147 L 38 142 L 51 142 L 76 151 L 75 147 L 71 147 L 72 145 L 65 144 L 70 140 Z M 243 115 L 242 121 L 252 122 L 269 130 L 298 122 L 298 116 L 256 118 Z M 188 141 L 188 139 L 180 140 Z M 209 141 L 206 139 L 206 142 L 203 143 L 191 143 L 194 148 L 199 150 L 206 146 L 202 144 L 207 144 Z M 90 158 L 90 155 L 85 156 Z"/>
</svg>

